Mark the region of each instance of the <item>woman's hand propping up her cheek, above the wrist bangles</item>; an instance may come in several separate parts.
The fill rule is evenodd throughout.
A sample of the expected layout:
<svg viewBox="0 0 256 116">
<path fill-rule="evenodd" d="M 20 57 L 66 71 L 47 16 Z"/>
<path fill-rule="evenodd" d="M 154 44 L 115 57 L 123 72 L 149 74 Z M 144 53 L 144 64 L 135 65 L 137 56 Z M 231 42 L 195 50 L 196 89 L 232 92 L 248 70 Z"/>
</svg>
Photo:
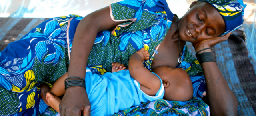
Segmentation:
<svg viewBox="0 0 256 116">
<path fill-rule="evenodd" d="M 223 42 L 223 41 L 226 41 L 228 40 L 228 37 L 230 36 L 231 33 L 228 33 L 224 36 L 221 36 L 221 37 L 216 37 L 216 38 L 211 38 L 211 39 L 208 39 L 208 40 L 203 40 L 199 43 L 196 43 L 196 44 L 193 44 L 196 52 L 204 49 L 204 48 L 210 48 L 212 46 L 215 46 L 216 44 L 220 43 L 220 42 Z M 207 50 L 203 50 L 202 52 L 211 52 L 211 49 L 207 49 Z M 200 52 L 200 53 L 202 53 Z"/>
</svg>

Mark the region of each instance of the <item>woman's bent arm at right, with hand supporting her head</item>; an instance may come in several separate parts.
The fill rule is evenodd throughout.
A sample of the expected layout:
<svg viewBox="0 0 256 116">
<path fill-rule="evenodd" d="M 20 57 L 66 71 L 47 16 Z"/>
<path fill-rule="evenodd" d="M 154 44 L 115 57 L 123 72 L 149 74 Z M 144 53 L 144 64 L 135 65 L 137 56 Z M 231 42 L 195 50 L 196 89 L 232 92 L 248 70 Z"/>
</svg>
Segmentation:
<svg viewBox="0 0 256 116">
<path fill-rule="evenodd" d="M 217 37 L 210 40 L 202 41 L 198 44 L 193 44 L 196 52 L 214 46 L 228 39 L 230 34 L 223 37 Z M 203 52 L 211 52 L 210 49 Z M 212 116 L 236 116 L 237 115 L 237 100 L 234 93 L 228 86 L 228 83 L 221 74 L 215 62 L 204 62 L 201 64 L 204 71 L 204 76 L 207 86 L 207 100 L 210 106 L 210 114 Z"/>
</svg>

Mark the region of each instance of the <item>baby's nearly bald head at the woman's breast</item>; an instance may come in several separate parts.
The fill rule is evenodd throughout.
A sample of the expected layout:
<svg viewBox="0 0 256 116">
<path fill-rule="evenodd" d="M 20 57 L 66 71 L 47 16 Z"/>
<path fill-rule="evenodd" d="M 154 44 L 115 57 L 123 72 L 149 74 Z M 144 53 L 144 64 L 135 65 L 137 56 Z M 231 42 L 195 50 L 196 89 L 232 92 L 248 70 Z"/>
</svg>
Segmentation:
<svg viewBox="0 0 256 116">
<path fill-rule="evenodd" d="M 170 101 L 188 101 L 193 96 L 193 86 L 188 73 L 182 68 L 160 66 L 152 70 L 164 85 L 164 99 Z"/>
</svg>

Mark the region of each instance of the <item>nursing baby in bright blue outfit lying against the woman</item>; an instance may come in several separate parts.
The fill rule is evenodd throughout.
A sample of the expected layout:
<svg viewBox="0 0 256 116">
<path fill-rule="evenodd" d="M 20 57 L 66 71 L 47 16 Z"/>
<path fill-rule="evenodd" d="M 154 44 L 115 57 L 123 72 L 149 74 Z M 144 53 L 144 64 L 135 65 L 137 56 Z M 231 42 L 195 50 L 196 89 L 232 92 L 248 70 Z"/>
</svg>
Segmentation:
<svg viewBox="0 0 256 116">
<path fill-rule="evenodd" d="M 157 99 L 187 101 L 192 98 L 192 82 L 186 71 L 161 66 L 150 72 L 142 63 L 148 58 L 148 51 L 142 48 L 132 54 L 129 70 L 123 70 L 123 64 L 113 63 L 112 73 L 98 75 L 89 70 L 86 72 L 86 92 L 91 104 L 91 116 L 110 116 L 142 102 Z M 50 91 L 48 86 L 41 86 L 43 100 L 57 112 L 61 101 L 58 97 L 65 94 L 64 80 L 67 77 L 67 73 L 61 76 Z"/>
</svg>

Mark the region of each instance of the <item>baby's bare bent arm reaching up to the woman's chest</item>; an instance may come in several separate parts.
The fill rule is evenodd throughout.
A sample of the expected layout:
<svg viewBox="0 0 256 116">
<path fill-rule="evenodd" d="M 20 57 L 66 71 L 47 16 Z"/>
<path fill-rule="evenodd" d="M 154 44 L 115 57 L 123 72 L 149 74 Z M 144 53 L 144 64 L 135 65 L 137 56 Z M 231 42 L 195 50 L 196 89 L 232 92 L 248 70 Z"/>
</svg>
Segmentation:
<svg viewBox="0 0 256 116">
<path fill-rule="evenodd" d="M 161 81 L 144 67 L 142 62 L 148 59 L 149 53 L 144 48 L 132 54 L 129 60 L 129 71 L 132 78 L 140 83 L 140 89 L 146 94 L 154 96 L 161 86 Z"/>
</svg>

